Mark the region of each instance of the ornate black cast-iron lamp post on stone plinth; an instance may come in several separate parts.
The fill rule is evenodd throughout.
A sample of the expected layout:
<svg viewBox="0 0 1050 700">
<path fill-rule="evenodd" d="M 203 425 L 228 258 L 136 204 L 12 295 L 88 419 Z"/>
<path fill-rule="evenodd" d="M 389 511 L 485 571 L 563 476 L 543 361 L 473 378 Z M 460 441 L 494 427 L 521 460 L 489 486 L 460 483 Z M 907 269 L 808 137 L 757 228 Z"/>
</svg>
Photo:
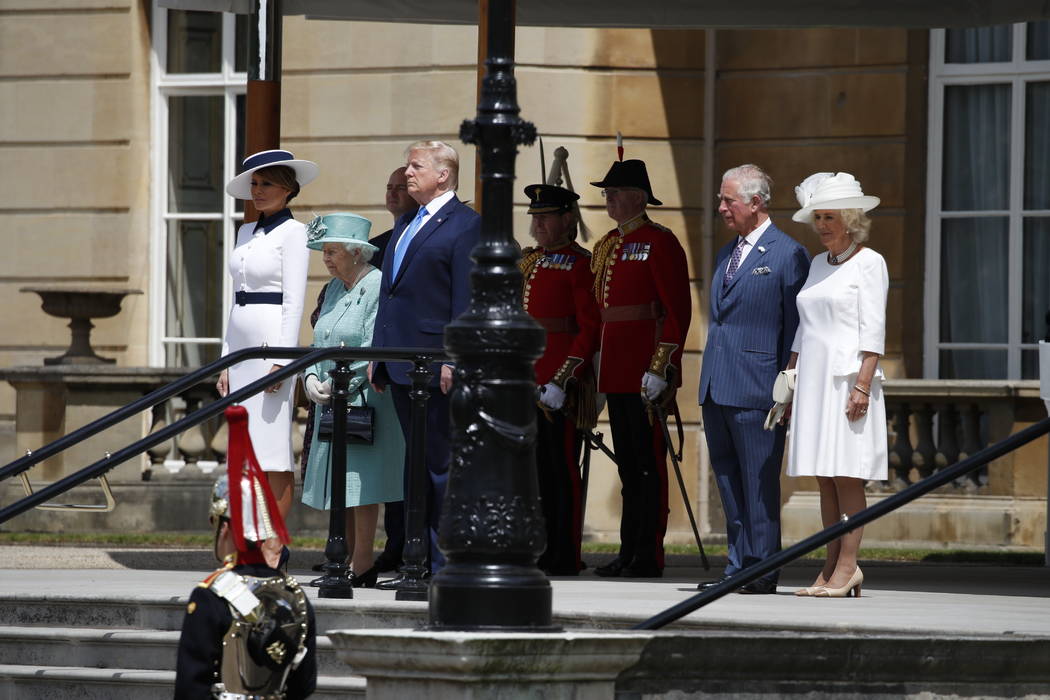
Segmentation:
<svg viewBox="0 0 1050 700">
<path fill-rule="evenodd" d="M 453 462 L 439 529 L 447 565 L 430 584 L 434 629 L 540 630 L 551 620 L 550 584 L 536 566 L 546 535 L 532 363 L 545 336 L 522 309 L 510 218 L 517 146 L 536 140 L 536 127 L 518 116 L 513 8 L 513 0 L 488 4 L 478 116 L 460 128 L 481 151 L 482 238 L 470 305 L 445 330 L 456 362 Z"/>
</svg>

